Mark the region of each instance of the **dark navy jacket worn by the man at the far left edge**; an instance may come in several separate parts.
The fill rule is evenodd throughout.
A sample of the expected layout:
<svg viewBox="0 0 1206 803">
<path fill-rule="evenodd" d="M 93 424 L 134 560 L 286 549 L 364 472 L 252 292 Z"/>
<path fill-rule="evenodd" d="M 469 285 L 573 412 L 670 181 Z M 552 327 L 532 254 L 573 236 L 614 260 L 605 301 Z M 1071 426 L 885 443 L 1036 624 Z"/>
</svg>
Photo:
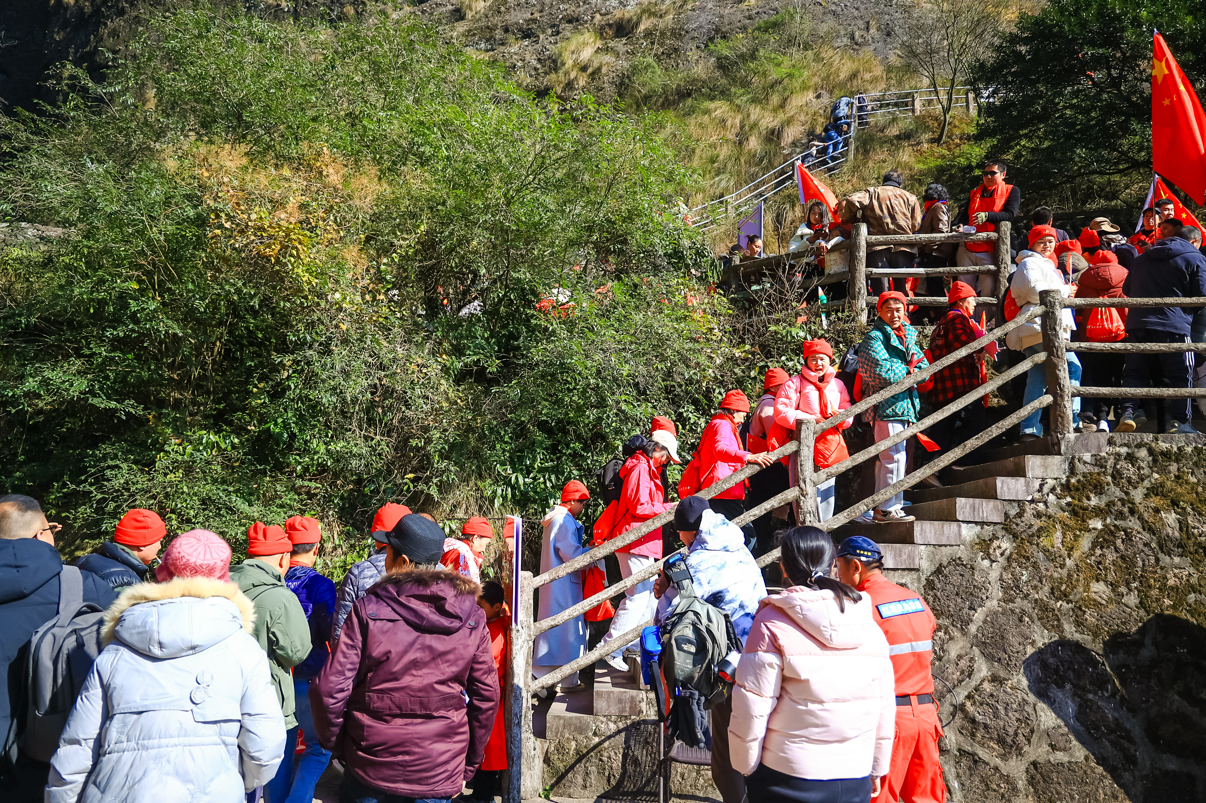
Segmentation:
<svg viewBox="0 0 1206 803">
<path fill-rule="evenodd" d="M 0 540 L 0 673 L 6 681 L 0 684 L 0 734 L 6 746 L 17 735 L 10 729 L 19 721 L 29 639 L 58 614 L 60 572 L 63 559 L 49 544 L 35 538 Z M 82 574 L 84 602 L 109 608 L 117 599 L 104 580 Z M 8 772 L 7 758 L 0 756 L 0 785 L 11 783 Z"/>
</svg>

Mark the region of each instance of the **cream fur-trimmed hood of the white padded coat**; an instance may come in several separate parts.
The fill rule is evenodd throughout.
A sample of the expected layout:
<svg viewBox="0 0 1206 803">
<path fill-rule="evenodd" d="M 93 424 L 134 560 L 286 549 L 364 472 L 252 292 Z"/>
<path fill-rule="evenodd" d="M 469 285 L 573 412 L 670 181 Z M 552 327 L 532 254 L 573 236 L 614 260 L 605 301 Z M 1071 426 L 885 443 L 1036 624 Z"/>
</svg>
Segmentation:
<svg viewBox="0 0 1206 803">
<path fill-rule="evenodd" d="M 206 650 L 242 629 L 252 633 L 254 605 L 233 582 L 175 578 L 129 586 L 105 611 L 104 644 L 121 641 L 156 658 Z"/>
</svg>

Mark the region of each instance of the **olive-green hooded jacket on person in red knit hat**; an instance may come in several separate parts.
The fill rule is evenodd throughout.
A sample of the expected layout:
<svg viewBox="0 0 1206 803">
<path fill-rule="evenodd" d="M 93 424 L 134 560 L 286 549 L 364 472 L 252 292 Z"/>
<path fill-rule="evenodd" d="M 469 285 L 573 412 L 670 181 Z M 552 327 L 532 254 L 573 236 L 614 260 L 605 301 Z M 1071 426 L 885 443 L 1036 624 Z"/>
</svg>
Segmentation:
<svg viewBox="0 0 1206 803">
<path fill-rule="evenodd" d="M 285 714 L 285 726 L 297 727 L 293 699 L 293 678 L 289 669 L 310 655 L 310 623 L 297 594 L 288 590 L 285 579 L 263 561 L 247 558 L 230 567 L 230 581 L 256 606 L 256 629 L 252 634 L 268 653 L 273 669 L 273 686 Z"/>
</svg>

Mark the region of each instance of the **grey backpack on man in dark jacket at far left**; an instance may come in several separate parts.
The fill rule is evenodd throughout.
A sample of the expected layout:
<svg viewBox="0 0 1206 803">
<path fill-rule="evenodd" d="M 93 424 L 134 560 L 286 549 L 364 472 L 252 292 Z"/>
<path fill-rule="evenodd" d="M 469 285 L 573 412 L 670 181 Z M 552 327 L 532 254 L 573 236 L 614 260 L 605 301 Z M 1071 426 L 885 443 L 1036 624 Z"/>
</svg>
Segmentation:
<svg viewBox="0 0 1206 803">
<path fill-rule="evenodd" d="M 83 600 L 83 575 L 64 565 L 59 575 L 59 612 L 34 631 L 25 661 L 25 729 L 22 751 L 49 762 L 83 680 L 100 655 L 105 612 Z"/>
</svg>

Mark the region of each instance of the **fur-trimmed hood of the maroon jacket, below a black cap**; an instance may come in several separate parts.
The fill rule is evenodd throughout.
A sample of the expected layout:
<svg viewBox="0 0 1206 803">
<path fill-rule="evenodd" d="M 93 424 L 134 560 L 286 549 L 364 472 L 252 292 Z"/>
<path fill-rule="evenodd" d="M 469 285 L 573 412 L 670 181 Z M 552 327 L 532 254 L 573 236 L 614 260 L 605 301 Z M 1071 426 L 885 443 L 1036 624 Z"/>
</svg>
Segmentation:
<svg viewBox="0 0 1206 803">
<path fill-rule="evenodd" d="M 446 569 L 387 574 L 369 588 L 370 619 L 402 619 L 421 633 L 451 634 L 481 620 L 481 586 Z"/>
</svg>

